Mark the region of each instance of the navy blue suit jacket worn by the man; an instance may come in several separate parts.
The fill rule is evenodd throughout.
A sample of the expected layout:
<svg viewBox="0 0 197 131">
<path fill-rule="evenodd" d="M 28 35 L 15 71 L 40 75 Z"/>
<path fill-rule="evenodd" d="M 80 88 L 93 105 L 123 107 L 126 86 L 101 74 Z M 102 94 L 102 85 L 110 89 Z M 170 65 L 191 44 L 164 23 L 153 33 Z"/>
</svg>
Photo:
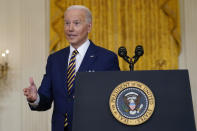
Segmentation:
<svg viewBox="0 0 197 131">
<path fill-rule="evenodd" d="M 52 116 L 52 131 L 63 131 L 65 114 L 68 114 L 68 130 L 72 128 L 73 94 L 68 95 L 66 87 L 66 74 L 70 49 L 64 48 L 48 57 L 46 74 L 38 90 L 40 103 L 32 110 L 45 111 L 54 101 Z M 117 55 L 104 48 L 90 46 L 84 56 L 78 72 L 87 71 L 119 71 Z"/>
</svg>

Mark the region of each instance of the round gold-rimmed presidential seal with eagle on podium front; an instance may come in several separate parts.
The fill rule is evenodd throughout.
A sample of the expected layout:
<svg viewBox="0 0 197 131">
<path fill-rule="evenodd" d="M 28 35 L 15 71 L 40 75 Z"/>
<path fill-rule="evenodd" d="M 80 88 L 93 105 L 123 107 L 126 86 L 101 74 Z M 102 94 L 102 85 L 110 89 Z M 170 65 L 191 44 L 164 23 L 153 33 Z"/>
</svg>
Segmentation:
<svg viewBox="0 0 197 131">
<path fill-rule="evenodd" d="M 138 81 L 127 81 L 118 85 L 109 100 L 113 116 L 123 124 L 139 125 L 153 114 L 155 98 L 152 91 Z"/>
</svg>

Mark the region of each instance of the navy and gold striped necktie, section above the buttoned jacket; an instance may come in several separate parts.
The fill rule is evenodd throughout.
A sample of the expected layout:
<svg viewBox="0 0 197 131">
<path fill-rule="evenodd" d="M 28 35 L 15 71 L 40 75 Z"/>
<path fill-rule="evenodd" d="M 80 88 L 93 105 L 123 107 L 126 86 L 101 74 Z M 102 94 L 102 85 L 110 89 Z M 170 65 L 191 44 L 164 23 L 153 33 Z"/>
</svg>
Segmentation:
<svg viewBox="0 0 197 131">
<path fill-rule="evenodd" d="M 67 89 L 68 89 L 68 93 L 70 94 L 72 92 L 73 89 L 73 85 L 74 85 L 74 80 L 75 80 L 75 76 L 76 76 L 76 55 L 79 52 L 77 50 L 74 50 L 72 52 L 72 56 L 70 58 L 69 61 L 69 65 L 68 65 L 68 70 L 67 70 Z"/>
</svg>

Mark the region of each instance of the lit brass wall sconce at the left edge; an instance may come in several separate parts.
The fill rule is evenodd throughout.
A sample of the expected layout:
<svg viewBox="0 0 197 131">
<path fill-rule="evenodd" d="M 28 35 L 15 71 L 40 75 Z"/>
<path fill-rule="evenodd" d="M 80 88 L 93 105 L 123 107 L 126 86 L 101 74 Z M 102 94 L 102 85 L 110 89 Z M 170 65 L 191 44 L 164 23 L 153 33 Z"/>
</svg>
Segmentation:
<svg viewBox="0 0 197 131">
<path fill-rule="evenodd" d="M 0 57 L 0 79 L 6 78 L 8 73 L 8 55 L 10 51 L 5 50 Z"/>
</svg>

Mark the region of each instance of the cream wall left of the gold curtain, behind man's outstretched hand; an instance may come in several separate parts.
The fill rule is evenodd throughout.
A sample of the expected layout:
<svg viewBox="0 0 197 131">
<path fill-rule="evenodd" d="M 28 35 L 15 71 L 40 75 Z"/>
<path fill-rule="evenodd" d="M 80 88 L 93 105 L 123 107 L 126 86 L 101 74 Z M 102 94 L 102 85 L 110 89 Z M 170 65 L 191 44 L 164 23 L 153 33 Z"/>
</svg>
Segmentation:
<svg viewBox="0 0 197 131">
<path fill-rule="evenodd" d="M 51 112 L 30 111 L 22 89 L 39 86 L 49 48 L 48 0 L 0 0 L 0 52 L 10 50 L 9 75 L 0 81 L 0 131 L 50 131 Z"/>
</svg>

